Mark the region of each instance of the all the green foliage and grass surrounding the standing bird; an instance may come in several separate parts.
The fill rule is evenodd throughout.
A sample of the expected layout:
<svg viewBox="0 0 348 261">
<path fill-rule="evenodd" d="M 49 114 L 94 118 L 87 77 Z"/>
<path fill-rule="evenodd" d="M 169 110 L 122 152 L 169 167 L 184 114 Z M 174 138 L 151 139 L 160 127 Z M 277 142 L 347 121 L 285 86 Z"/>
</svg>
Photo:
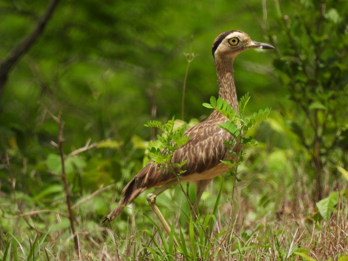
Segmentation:
<svg viewBox="0 0 348 261">
<path fill-rule="evenodd" d="M 347 1 L 61 1 L 9 67 L 52 2 L 0 0 L 1 260 L 348 260 Z M 245 114 L 271 108 L 238 178 L 198 220 L 160 195 L 169 240 L 146 193 L 101 224 L 156 145 L 144 124 L 211 113 L 211 45 L 235 29 L 276 47 L 235 61 Z"/>
</svg>

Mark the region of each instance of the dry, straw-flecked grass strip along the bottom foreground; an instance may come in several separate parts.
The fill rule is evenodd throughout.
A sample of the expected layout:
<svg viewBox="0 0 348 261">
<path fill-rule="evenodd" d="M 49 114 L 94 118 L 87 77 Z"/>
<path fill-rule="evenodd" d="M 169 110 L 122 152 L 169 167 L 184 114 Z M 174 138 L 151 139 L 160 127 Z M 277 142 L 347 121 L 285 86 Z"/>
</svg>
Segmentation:
<svg viewBox="0 0 348 261">
<path fill-rule="evenodd" d="M 199 222 L 195 222 L 197 228 L 192 243 L 190 229 L 182 225 L 181 217 L 175 216 L 175 231 L 179 237 L 180 229 L 183 232 L 182 242 L 188 251 L 186 255 L 183 254 L 182 247 L 175 249 L 167 245 L 168 237 L 165 232 L 157 229 L 156 224 L 152 224 L 154 221 L 146 214 L 144 216 L 134 213 L 127 222 L 119 220 L 111 223 L 110 227 L 101 227 L 100 223 L 94 221 L 93 216 L 83 216 L 82 213 L 78 213 L 80 215 L 76 216 L 75 220 L 79 231 L 81 259 L 302 260 L 303 256 L 296 254 L 301 253 L 304 259 L 307 256 L 316 260 L 338 260 L 340 256 L 348 254 L 346 195 L 340 196 L 339 204 L 327 222 L 323 220 L 314 222 L 318 214 L 313 204 L 307 201 L 294 204 L 289 200 L 280 200 L 274 207 L 266 206 L 265 212 L 252 202 L 252 198 L 246 198 L 241 193 L 235 197 L 235 202 L 240 204 L 235 204 L 238 211 L 229 228 L 227 228 L 229 221 L 227 217 L 231 204 L 228 200 L 220 204 L 209 240 L 206 240 L 200 231 Z M 301 211 L 296 208 L 297 205 L 302 206 Z M 4 206 L 2 203 L 2 207 Z M 272 208 L 278 211 L 271 213 Z M 267 214 L 263 216 L 263 213 Z M 310 216 L 310 213 L 315 214 Z M 202 216 L 205 217 L 206 214 Z M 156 218 L 153 220 L 156 221 Z M 69 221 L 64 216 L 32 212 L 15 219 L 7 219 L 6 222 L 2 218 L 1 224 L 0 257 L 5 254 L 7 248 L 13 247 L 9 247 L 8 244 L 14 242 L 16 238 L 17 255 L 25 260 L 29 259 L 28 256 L 33 249 L 36 252 L 32 256 L 38 260 L 48 260 L 47 256 L 49 260 L 77 260 Z M 4 228 L 9 226 L 13 226 L 11 234 L 4 232 Z M 119 237 L 118 235 L 124 234 L 122 228 L 127 232 L 125 236 Z M 225 232 L 222 232 L 224 229 Z M 208 231 L 208 228 L 206 230 Z M 47 231 L 45 240 L 40 241 Z M 35 242 L 37 242 L 36 248 Z M 192 247 L 196 256 L 193 255 Z M 172 259 L 168 258 L 171 251 L 173 251 Z M 204 254 L 204 251 L 208 254 Z M 12 259 L 7 260 L 13 260 L 13 255 Z"/>
</svg>

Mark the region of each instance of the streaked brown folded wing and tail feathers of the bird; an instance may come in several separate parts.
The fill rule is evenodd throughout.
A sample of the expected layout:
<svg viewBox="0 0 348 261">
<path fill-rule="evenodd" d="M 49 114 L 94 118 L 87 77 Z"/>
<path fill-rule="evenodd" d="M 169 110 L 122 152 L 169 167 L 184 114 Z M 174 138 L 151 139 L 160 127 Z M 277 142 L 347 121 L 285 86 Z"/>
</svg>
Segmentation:
<svg viewBox="0 0 348 261">
<path fill-rule="evenodd" d="M 188 143 L 180 147 L 172 158 L 173 163 L 181 163 L 188 160 L 180 169 L 186 171 L 182 177 L 188 177 L 193 173 L 202 173 L 220 163 L 220 159 L 227 157 L 227 149 L 223 142 L 232 137 L 229 133 L 217 127 L 217 124 L 227 119 L 216 111 L 205 121 L 186 130 L 185 135 L 190 135 Z M 103 220 L 111 221 L 124 208 L 132 202 L 140 193 L 152 188 L 164 185 L 176 177 L 166 169 L 158 169 L 158 164 L 146 165 L 124 188 L 124 195 L 118 206 Z M 175 170 L 179 172 L 179 169 Z M 222 173 L 219 173 L 222 174 Z M 207 177 L 199 177 L 196 180 L 204 180 Z"/>
</svg>

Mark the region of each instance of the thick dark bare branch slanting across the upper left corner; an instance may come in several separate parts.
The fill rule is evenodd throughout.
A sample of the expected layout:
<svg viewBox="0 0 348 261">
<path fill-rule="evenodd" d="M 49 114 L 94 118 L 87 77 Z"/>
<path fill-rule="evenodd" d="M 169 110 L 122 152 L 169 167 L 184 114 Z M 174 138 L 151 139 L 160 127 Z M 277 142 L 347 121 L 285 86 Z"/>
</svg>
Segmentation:
<svg viewBox="0 0 348 261">
<path fill-rule="evenodd" d="M 35 29 L 21 42 L 19 42 L 19 44 L 10 51 L 6 59 L 0 63 L 0 98 L 11 69 L 19 58 L 25 54 L 34 44 L 34 42 L 40 37 L 59 1 L 60 0 L 51 0 L 48 3 L 44 15 L 38 19 Z"/>
</svg>

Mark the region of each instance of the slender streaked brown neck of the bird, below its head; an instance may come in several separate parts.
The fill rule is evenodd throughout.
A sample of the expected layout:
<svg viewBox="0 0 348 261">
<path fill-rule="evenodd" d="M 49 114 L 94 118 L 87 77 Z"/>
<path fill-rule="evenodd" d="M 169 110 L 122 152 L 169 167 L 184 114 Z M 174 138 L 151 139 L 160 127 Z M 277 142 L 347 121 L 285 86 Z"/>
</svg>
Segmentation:
<svg viewBox="0 0 348 261">
<path fill-rule="evenodd" d="M 233 78 L 233 58 L 220 58 L 215 60 L 217 83 L 219 84 L 219 97 L 227 100 L 232 109 L 238 111 L 238 98 L 235 80 Z"/>
</svg>

